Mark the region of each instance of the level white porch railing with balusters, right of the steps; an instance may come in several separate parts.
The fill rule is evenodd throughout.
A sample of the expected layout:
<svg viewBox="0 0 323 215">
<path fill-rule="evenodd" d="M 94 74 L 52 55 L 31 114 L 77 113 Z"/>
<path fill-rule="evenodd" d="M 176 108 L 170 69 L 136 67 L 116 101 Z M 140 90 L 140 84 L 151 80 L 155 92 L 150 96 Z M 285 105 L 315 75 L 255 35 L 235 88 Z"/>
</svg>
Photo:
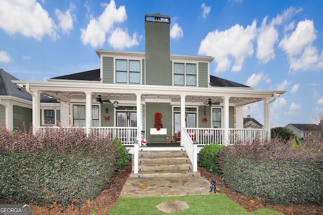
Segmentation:
<svg viewBox="0 0 323 215">
<path fill-rule="evenodd" d="M 197 142 L 198 146 L 206 144 L 225 144 L 224 128 L 184 128 L 193 141 Z M 246 143 L 258 139 L 264 140 L 267 136 L 265 129 L 252 128 L 230 128 L 229 136 L 227 137 L 229 145 L 237 144 L 238 142 Z"/>
</svg>

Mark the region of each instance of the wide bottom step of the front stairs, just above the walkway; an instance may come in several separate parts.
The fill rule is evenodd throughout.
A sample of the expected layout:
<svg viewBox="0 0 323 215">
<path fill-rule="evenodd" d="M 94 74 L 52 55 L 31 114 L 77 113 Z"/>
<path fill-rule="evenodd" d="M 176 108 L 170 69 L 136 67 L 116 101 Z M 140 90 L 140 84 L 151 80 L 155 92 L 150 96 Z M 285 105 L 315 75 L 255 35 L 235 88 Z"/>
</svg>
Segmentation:
<svg viewBox="0 0 323 215">
<path fill-rule="evenodd" d="M 173 171 L 141 171 L 138 174 L 131 173 L 131 178 L 156 178 L 156 177 L 200 177 L 199 172 L 192 172 L 186 170 L 173 170 Z"/>
</svg>

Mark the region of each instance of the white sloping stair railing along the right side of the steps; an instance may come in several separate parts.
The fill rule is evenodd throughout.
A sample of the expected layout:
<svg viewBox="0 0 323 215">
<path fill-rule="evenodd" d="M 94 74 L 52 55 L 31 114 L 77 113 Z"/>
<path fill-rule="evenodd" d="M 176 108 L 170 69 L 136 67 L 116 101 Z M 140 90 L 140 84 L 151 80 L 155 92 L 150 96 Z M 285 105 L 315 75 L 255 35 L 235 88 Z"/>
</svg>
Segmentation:
<svg viewBox="0 0 323 215">
<path fill-rule="evenodd" d="M 185 130 L 185 128 L 183 128 Z M 193 141 L 191 136 L 188 132 L 184 132 L 183 135 L 181 135 L 181 142 L 185 148 L 185 151 L 187 153 L 187 156 L 192 162 L 193 165 L 193 172 L 197 172 L 197 144 L 196 141 Z"/>
</svg>

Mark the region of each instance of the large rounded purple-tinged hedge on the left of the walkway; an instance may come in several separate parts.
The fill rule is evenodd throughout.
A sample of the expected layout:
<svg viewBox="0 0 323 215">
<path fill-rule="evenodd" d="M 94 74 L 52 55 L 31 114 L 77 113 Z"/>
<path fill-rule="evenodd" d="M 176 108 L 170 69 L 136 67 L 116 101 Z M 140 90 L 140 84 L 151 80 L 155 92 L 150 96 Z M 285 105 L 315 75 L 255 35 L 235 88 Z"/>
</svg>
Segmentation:
<svg viewBox="0 0 323 215">
<path fill-rule="evenodd" d="M 115 141 L 82 129 L 0 132 L 0 198 L 7 203 L 81 207 L 106 188 L 117 169 Z M 120 148 L 120 146 L 119 146 Z M 122 151 L 121 151 L 122 152 Z"/>
</svg>

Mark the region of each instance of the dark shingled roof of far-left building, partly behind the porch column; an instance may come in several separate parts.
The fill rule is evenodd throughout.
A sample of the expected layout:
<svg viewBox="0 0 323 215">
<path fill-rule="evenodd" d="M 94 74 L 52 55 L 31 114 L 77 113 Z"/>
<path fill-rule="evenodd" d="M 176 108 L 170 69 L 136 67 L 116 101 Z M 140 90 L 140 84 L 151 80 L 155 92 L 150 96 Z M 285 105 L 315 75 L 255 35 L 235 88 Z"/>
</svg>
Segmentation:
<svg viewBox="0 0 323 215">
<path fill-rule="evenodd" d="M 11 80 L 19 79 L 10 75 L 4 69 L 0 68 L 0 96 L 13 96 L 32 101 L 32 96 L 26 91 L 26 89 L 20 88 L 18 85 L 12 83 Z M 40 102 L 53 103 L 57 102 L 57 100 L 41 95 Z"/>
</svg>

